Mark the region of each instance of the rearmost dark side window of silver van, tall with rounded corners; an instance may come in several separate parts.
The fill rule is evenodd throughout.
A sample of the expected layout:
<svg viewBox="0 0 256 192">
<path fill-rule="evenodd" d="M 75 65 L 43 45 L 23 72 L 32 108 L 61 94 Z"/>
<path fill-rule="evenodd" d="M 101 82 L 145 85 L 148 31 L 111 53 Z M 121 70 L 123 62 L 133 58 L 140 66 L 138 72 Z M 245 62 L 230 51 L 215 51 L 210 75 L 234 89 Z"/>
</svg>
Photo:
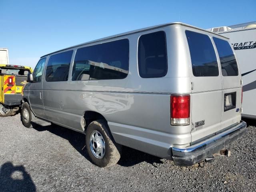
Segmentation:
<svg viewBox="0 0 256 192">
<path fill-rule="evenodd" d="M 164 31 L 140 36 L 138 68 L 142 78 L 163 77 L 166 75 L 167 51 Z"/>
</svg>

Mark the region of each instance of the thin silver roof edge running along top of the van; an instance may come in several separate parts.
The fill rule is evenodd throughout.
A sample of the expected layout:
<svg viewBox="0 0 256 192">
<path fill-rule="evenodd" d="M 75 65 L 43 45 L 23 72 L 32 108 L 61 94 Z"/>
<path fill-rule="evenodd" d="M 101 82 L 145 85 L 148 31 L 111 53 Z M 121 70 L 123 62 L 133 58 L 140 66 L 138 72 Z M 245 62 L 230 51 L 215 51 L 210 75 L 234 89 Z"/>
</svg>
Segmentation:
<svg viewBox="0 0 256 192">
<path fill-rule="evenodd" d="M 192 26 L 192 25 L 188 25 L 188 24 L 185 24 L 185 23 L 182 23 L 182 22 L 172 22 L 172 23 L 160 24 L 160 25 L 156 25 L 156 26 L 151 26 L 151 27 L 141 28 L 141 29 L 137 29 L 137 30 L 132 30 L 132 31 L 129 31 L 129 32 L 124 32 L 124 33 L 108 36 L 108 37 L 105 37 L 105 38 L 100 38 L 100 39 L 97 39 L 97 40 L 92 40 L 92 41 L 89 41 L 89 42 L 86 42 L 86 43 L 78 44 L 78 45 L 75 45 L 75 46 L 71 46 L 71 47 L 68 47 L 68 48 L 64 48 L 64 49 L 61 49 L 61 50 L 58 50 L 58 51 L 51 52 L 49 54 L 43 55 L 42 57 L 50 55 L 50 54 L 54 54 L 54 53 L 57 53 L 57 52 L 60 52 L 60 51 L 68 50 L 70 48 L 75 48 L 75 47 L 78 47 L 78 46 L 83 46 L 83 45 L 92 44 L 92 43 L 96 43 L 96 42 L 101 42 L 101 41 L 104 41 L 104 40 L 109 40 L 109 39 L 122 37 L 122 36 L 130 35 L 130 34 L 135 34 L 135 33 L 138 33 L 138 32 L 144 32 L 144 31 L 148 31 L 148 30 L 152 30 L 152 29 L 162 28 L 162 27 L 166 27 L 166 26 L 170 26 L 170 25 L 174 25 L 174 24 L 179 24 L 179 25 L 195 28 L 195 29 L 198 29 L 198 30 L 202 30 L 202 31 L 212 33 L 214 35 L 218 35 L 218 36 L 221 36 L 223 38 L 229 39 L 229 38 L 227 38 L 225 36 L 222 36 L 220 34 L 216 34 L 214 32 L 210 32 L 208 30 L 198 28 L 198 27 L 195 27 L 195 26 Z"/>
</svg>

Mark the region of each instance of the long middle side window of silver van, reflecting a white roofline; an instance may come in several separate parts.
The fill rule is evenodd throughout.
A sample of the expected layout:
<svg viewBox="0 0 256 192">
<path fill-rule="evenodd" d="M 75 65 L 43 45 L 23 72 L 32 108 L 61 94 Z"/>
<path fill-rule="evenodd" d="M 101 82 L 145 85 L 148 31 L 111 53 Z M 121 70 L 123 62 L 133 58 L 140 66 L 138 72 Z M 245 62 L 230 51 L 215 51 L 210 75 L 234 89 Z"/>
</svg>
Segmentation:
<svg viewBox="0 0 256 192">
<path fill-rule="evenodd" d="M 123 79 L 128 70 L 129 40 L 116 40 L 78 49 L 72 80 Z"/>
</svg>

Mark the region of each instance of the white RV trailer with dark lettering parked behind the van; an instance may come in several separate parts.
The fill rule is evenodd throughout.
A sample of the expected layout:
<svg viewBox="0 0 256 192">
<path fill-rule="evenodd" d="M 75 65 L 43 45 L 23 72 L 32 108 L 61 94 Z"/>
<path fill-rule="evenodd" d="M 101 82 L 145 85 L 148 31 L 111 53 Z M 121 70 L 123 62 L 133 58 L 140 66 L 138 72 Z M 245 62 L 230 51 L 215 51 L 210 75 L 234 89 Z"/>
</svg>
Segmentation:
<svg viewBox="0 0 256 192">
<path fill-rule="evenodd" d="M 242 117 L 256 119 L 256 21 L 209 30 L 230 38 L 243 80 Z"/>
</svg>

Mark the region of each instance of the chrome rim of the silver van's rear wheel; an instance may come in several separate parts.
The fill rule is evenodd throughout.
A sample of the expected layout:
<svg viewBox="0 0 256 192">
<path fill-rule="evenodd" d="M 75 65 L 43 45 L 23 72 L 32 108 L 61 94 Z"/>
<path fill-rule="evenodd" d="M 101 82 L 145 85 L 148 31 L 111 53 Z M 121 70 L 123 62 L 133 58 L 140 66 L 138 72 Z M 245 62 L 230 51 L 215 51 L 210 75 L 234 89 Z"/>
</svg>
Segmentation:
<svg viewBox="0 0 256 192">
<path fill-rule="evenodd" d="M 90 149 L 94 157 L 102 159 L 105 154 L 105 141 L 98 131 L 90 134 Z"/>
</svg>

